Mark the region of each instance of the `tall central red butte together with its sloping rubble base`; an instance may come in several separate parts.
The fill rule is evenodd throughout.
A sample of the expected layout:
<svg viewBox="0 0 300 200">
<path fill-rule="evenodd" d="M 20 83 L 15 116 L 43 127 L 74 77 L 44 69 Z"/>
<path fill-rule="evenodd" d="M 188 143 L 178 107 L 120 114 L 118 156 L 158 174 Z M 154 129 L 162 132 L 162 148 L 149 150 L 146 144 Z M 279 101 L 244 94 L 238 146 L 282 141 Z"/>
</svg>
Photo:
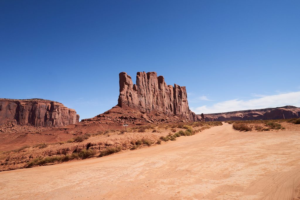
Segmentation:
<svg viewBox="0 0 300 200">
<path fill-rule="evenodd" d="M 119 74 L 118 104 L 94 118 L 102 124 L 145 124 L 198 121 L 187 102 L 184 86 L 167 85 L 156 72 L 137 72 L 136 84 L 126 72 Z"/>
</svg>

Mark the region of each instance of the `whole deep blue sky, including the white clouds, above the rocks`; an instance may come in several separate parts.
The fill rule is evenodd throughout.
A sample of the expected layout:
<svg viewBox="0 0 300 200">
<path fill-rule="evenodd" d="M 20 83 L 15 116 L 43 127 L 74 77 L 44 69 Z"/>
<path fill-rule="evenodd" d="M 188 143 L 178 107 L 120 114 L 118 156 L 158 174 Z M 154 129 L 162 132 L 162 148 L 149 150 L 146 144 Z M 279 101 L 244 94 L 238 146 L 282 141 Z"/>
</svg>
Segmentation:
<svg viewBox="0 0 300 200">
<path fill-rule="evenodd" d="M 117 104 L 119 73 L 156 71 L 190 108 L 300 107 L 300 1 L 0 1 L 0 98 L 83 118 Z"/>
</svg>

